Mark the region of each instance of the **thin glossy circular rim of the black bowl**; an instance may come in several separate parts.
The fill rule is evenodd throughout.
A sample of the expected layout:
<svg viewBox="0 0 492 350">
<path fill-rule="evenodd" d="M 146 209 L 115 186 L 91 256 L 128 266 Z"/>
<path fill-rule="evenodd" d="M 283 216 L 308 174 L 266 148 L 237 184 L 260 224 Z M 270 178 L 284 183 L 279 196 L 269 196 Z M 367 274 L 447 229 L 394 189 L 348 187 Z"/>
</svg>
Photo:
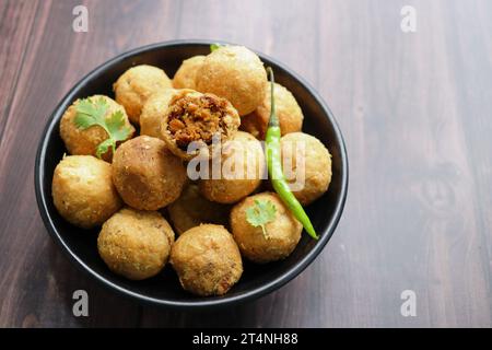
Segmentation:
<svg viewBox="0 0 492 350">
<path fill-rule="evenodd" d="M 167 42 L 160 42 L 154 43 L 141 47 L 133 48 L 129 51 L 125 51 L 122 54 L 119 54 L 115 56 L 114 58 L 106 60 L 102 65 L 94 68 L 92 71 L 90 71 L 87 74 L 85 74 L 82 79 L 80 79 L 70 90 L 69 92 L 61 98 L 61 101 L 57 104 L 54 112 L 49 116 L 47 124 L 40 135 L 40 139 L 38 142 L 37 151 L 36 151 L 36 159 L 34 164 L 34 185 L 35 185 L 35 192 L 36 192 L 36 201 L 39 209 L 40 217 L 43 219 L 44 225 L 47 229 L 48 233 L 50 234 L 51 238 L 61 247 L 63 253 L 69 257 L 69 259 L 83 272 L 94 278 L 96 281 L 99 282 L 99 284 L 104 285 L 105 288 L 118 292 L 118 294 L 130 298 L 132 300 L 137 300 L 139 302 L 143 302 L 144 304 L 151 304 L 151 305 L 159 305 L 159 306 L 166 306 L 172 308 L 210 308 L 212 306 L 231 306 L 231 305 L 237 305 L 241 303 L 244 303 L 246 301 L 251 301 L 255 299 L 258 299 L 260 296 L 263 296 L 277 289 L 280 289 L 284 284 L 286 284 L 289 281 L 297 277 L 304 269 L 307 268 L 307 266 L 315 260 L 315 258 L 319 255 L 319 253 L 324 249 L 328 241 L 333 235 L 333 232 L 340 221 L 343 207 L 347 200 L 347 194 L 348 194 L 348 183 L 349 183 L 349 163 L 348 163 L 348 155 L 347 155 L 347 149 L 345 143 L 340 130 L 340 127 L 335 119 L 335 116 L 331 112 L 331 109 L 328 107 L 328 105 L 325 103 L 324 98 L 318 94 L 318 92 L 306 81 L 304 78 L 300 77 L 296 72 L 294 72 L 292 69 L 288 68 L 285 65 L 279 62 L 277 59 L 273 59 L 269 57 L 268 55 L 265 55 L 262 52 L 256 51 L 258 56 L 261 59 L 269 60 L 273 62 L 274 65 L 279 66 L 281 69 L 283 69 L 285 72 L 288 72 L 294 80 L 296 80 L 298 83 L 304 85 L 306 90 L 309 92 L 309 94 L 313 95 L 313 97 L 316 100 L 316 102 L 320 105 L 321 109 L 325 113 L 325 116 L 329 119 L 329 122 L 331 122 L 333 130 L 335 130 L 335 137 L 336 142 L 340 145 L 340 175 L 341 175 L 341 186 L 340 186 L 340 196 L 338 197 L 338 200 L 335 206 L 333 214 L 330 218 L 330 221 L 328 223 L 328 226 L 326 230 L 324 230 L 323 234 L 320 234 L 320 237 L 318 242 L 316 242 L 315 246 L 307 252 L 307 254 L 293 267 L 291 267 L 286 272 L 282 273 L 278 278 L 269 281 L 268 283 L 265 283 L 262 285 L 259 285 L 250 291 L 247 291 L 245 293 L 242 293 L 239 295 L 223 295 L 219 299 L 212 299 L 212 300 L 192 300 L 192 301 L 169 301 L 153 296 L 148 296 L 131 290 L 128 290 L 121 285 L 118 285 L 117 283 L 114 283 L 106 279 L 104 276 L 101 276 L 96 271 L 94 271 L 91 267 L 89 267 L 80 257 L 78 257 L 67 245 L 67 243 L 63 241 L 63 238 L 60 235 L 60 232 L 58 231 L 57 226 L 55 225 L 52 219 L 48 214 L 48 207 L 47 201 L 50 200 L 50 198 L 46 198 L 45 192 L 43 191 L 43 182 L 45 178 L 45 172 L 44 166 L 42 166 L 45 163 L 46 160 L 46 149 L 48 144 L 48 138 L 47 135 L 51 133 L 52 129 L 57 127 L 58 120 L 56 118 L 56 115 L 60 113 L 60 108 L 62 105 L 67 104 L 68 101 L 73 100 L 73 95 L 75 91 L 79 89 L 80 85 L 87 83 L 89 81 L 93 80 L 97 75 L 104 73 L 108 67 L 114 66 L 118 61 L 122 61 L 129 57 L 137 56 L 139 54 L 150 51 L 150 50 L 156 50 L 163 47 L 179 47 L 179 46 L 189 46 L 189 45 L 210 45 L 210 44 L 226 44 L 226 45 L 237 45 L 234 43 L 227 43 L 224 40 L 210 40 L 210 39 L 177 39 L 177 40 L 167 40 Z M 49 197 L 49 196 L 48 196 Z"/>
</svg>

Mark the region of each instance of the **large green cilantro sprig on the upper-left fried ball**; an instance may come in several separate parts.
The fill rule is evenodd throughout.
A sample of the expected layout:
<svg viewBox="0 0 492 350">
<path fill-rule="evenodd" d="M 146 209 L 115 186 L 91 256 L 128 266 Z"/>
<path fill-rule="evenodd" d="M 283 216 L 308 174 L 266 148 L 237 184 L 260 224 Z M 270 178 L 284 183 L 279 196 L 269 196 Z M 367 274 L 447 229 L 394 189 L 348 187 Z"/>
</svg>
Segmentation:
<svg viewBox="0 0 492 350">
<path fill-rule="evenodd" d="M 108 105 L 104 97 L 83 98 L 75 105 L 77 115 L 74 124 L 79 129 L 87 129 L 92 126 L 102 127 L 108 138 L 101 142 L 96 149 L 96 156 L 102 158 L 109 148 L 113 153 L 116 150 L 116 142 L 126 140 L 131 135 L 131 128 L 125 124 L 125 115 L 121 110 L 116 110 L 109 116 L 107 115 Z"/>
</svg>

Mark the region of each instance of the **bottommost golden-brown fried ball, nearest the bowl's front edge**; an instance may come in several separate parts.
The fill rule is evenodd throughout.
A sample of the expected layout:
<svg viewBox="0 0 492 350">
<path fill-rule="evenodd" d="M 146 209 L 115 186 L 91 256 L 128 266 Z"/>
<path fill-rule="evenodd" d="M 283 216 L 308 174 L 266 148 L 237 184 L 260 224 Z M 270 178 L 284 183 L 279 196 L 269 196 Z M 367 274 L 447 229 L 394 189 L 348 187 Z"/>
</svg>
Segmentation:
<svg viewBox="0 0 492 350">
<path fill-rule="evenodd" d="M 243 273 L 239 249 L 221 225 L 203 224 L 183 233 L 169 261 L 183 288 L 203 296 L 225 294 Z"/>
</svg>

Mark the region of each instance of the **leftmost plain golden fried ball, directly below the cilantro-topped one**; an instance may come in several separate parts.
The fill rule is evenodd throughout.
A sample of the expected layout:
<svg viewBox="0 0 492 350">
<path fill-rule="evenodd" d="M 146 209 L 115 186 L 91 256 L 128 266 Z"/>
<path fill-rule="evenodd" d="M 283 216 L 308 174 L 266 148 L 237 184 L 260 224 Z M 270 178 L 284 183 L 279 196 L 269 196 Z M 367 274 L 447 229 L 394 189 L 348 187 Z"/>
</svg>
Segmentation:
<svg viewBox="0 0 492 350">
<path fill-rule="evenodd" d="M 63 158 L 55 168 L 51 194 L 60 215 L 83 229 L 101 225 L 122 205 L 112 165 L 92 155 Z"/>
</svg>

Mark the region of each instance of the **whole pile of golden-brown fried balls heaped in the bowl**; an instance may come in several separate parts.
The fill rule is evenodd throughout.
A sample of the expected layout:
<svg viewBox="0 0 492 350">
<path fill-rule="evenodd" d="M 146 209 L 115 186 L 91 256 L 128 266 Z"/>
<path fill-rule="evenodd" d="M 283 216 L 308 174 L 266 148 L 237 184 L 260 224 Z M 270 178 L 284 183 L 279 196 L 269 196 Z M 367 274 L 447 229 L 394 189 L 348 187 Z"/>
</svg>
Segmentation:
<svg viewBox="0 0 492 350">
<path fill-rule="evenodd" d="M 108 132 L 98 125 L 80 128 L 75 122 L 80 100 L 75 101 L 60 121 L 69 155 L 63 155 L 52 177 L 58 212 L 75 226 L 98 231 L 97 249 L 110 271 L 143 280 L 169 261 L 186 291 L 222 295 L 239 280 L 243 258 L 266 264 L 294 250 L 303 228 L 260 176 L 266 170 L 260 141 L 268 128 L 270 88 L 255 52 L 223 46 L 184 60 L 173 80 L 157 67 L 136 66 L 113 90 L 114 98 L 87 100 L 105 103 L 105 118 L 122 114 L 131 130 L 127 139 L 117 142 L 116 151 L 109 148 L 97 154 Z M 282 156 L 291 158 L 284 164 L 295 167 L 301 162 L 284 144 L 305 144 L 301 154 L 305 184 L 293 194 L 308 206 L 328 189 L 331 155 L 319 140 L 301 131 L 304 116 L 293 94 L 276 83 L 274 98 Z M 187 164 L 197 154 L 187 148 L 192 141 L 211 147 L 214 135 L 222 142 L 258 145 L 253 151 L 258 176 L 191 180 Z M 227 155 L 209 156 L 213 161 Z M 261 201 L 276 208 L 265 228 L 247 218 Z"/>
</svg>

